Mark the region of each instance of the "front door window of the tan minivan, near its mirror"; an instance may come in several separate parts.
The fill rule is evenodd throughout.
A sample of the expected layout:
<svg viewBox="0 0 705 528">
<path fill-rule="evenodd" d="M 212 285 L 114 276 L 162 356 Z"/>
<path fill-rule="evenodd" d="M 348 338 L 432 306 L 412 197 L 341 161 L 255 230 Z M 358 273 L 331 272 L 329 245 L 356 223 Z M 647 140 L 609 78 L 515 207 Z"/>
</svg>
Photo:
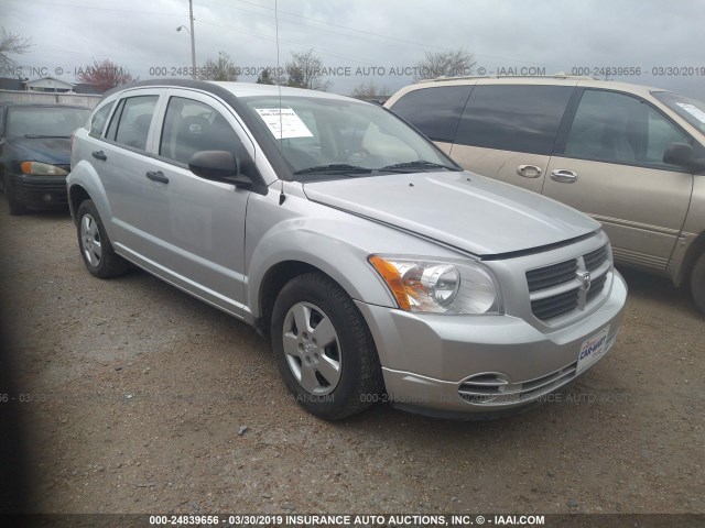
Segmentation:
<svg viewBox="0 0 705 528">
<path fill-rule="evenodd" d="M 565 144 L 565 155 L 626 165 L 673 168 L 665 148 L 690 139 L 660 112 L 636 97 L 585 90 Z"/>
</svg>

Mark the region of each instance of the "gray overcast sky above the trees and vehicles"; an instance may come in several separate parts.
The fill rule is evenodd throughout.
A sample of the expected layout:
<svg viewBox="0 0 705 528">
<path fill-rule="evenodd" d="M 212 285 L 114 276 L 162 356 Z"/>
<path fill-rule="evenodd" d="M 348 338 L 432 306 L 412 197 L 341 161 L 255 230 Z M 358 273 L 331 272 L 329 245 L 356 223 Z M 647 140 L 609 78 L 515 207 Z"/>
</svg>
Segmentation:
<svg viewBox="0 0 705 528">
<path fill-rule="evenodd" d="M 703 0 L 279 0 L 278 11 L 281 64 L 313 48 L 343 74 L 327 77 L 339 94 L 370 80 L 393 92 L 412 80 L 391 68 L 465 47 L 487 73 L 633 66 L 640 76 L 610 78 L 705 99 Z M 240 67 L 276 65 L 274 0 L 194 0 L 194 18 L 198 64 L 223 50 Z M 0 0 L 0 20 L 32 37 L 32 51 L 13 57 L 30 78 L 73 82 L 75 68 L 104 58 L 142 79 L 191 65 L 188 34 L 176 32 L 188 25 L 188 0 Z M 659 67 L 680 69 L 652 75 Z"/>
</svg>

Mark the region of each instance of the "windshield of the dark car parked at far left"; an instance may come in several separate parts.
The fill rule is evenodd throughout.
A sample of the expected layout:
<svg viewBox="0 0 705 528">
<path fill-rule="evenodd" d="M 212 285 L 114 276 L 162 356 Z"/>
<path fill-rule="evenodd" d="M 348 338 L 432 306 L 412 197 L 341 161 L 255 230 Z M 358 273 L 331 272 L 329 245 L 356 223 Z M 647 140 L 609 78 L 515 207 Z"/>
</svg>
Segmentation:
<svg viewBox="0 0 705 528">
<path fill-rule="evenodd" d="M 83 127 L 90 110 L 62 107 L 18 107 L 8 109 L 8 138 L 69 138 Z"/>
</svg>

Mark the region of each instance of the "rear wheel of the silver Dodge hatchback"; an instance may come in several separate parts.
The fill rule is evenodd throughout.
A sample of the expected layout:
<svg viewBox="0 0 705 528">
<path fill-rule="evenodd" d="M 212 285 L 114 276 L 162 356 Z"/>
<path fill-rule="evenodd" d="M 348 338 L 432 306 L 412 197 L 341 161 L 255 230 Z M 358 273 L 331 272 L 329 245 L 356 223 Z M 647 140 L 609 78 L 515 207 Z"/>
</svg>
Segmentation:
<svg viewBox="0 0 705 528">
<path fill-rule="evenodd" d="M 99 278 L 123 275 L 129 264 L 112 250 L 95 204 L 91 200 L 82 202 L 77 218 L 78 246 L 88 272 Z"/>
</svg>

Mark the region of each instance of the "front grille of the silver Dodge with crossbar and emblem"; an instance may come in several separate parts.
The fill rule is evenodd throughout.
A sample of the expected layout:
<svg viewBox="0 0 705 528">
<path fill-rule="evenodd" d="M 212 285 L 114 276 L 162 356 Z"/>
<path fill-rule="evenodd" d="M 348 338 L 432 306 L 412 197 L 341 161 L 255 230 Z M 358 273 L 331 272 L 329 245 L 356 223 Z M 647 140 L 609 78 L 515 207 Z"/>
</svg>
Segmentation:
<svg viewBox="0 0 705 528">
<path fill-rule="evenodd" d="M 529 270 L 531 311 L 547 321 L 584 309 L 605 288 L 610 268 L 609 248 L 605 244 L 576 258 Z"/>
</svg>

